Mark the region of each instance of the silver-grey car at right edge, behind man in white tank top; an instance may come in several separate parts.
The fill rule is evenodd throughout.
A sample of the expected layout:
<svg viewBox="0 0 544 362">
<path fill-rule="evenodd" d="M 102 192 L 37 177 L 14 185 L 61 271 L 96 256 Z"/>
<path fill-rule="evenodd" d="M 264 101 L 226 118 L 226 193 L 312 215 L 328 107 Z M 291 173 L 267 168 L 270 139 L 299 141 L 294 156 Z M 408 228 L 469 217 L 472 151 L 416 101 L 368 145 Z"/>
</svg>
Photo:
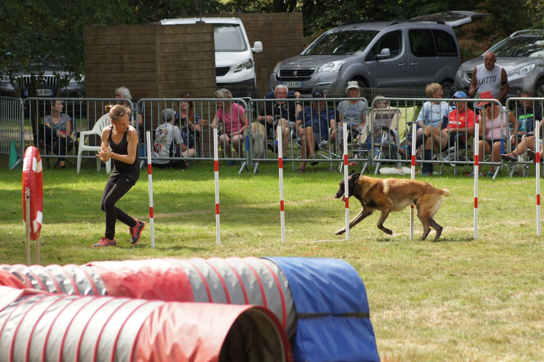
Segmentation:
<svg viewBox="0 0 544 362">
<path fill-rule="evenodd" d="M 497 65 L 506 71 L 510 96 L 517 96 L 520 90 L 535 90 L 537 97 L 544 97 L 544 30 L 520 30 L 499 41 L 487 52 L 494 52 Z M 474 67 L 484 63 L 485 53 L 480 57 L 461 64 L 455 76 L 455 87 L 468 89 Z"/>
</svg>

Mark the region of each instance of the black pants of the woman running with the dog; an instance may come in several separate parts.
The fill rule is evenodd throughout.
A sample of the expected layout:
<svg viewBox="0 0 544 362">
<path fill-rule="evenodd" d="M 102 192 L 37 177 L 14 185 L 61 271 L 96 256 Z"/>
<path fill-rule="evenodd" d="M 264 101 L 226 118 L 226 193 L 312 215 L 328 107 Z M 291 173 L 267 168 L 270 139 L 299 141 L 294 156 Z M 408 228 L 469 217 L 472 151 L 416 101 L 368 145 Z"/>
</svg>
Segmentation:
<svg viewBox="0 0 544 362">
<path fill-rule="evenodd" d="M 120 175 L 117 179 L 109 178 L 104 187 L 104 193 L 102 194 L 102 200 L 100 201 L 100 208 L 106 212 L 106 232 L 104 236 L 109 240 L 113 240 L 115 236 L 115 222 L 119 220 L 134 228 L 136 226 L 136 220 L 122 211 L 119 207 L 115 206 L 115 203 L 119 201 L 129 189 L 134 186 L 132 180 Z"/>
</svg>

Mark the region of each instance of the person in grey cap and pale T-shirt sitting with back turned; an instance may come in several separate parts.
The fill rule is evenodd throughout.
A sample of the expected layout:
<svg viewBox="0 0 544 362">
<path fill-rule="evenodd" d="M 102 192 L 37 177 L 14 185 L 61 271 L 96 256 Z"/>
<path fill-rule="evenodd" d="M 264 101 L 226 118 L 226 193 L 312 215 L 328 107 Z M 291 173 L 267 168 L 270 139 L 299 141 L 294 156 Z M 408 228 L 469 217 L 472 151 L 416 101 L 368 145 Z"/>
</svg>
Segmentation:
<svg viewBox="0 0 544 362">
<path fill-rule="evenodd" d="M 152 149 L 153 158 L 195 157 L 196 155 L 195 149 L 189 149 L 183 142 L 180 128 L 172 124 L 174 114 L 171 108 L 164 109 L 161 114 L 164 123 L 161 123 L 155 131 L 155 142 L 153 142 Z M 187 167 L 182 159 L 153 159 L 153 165 L 159 168 Z"/>
</svg>

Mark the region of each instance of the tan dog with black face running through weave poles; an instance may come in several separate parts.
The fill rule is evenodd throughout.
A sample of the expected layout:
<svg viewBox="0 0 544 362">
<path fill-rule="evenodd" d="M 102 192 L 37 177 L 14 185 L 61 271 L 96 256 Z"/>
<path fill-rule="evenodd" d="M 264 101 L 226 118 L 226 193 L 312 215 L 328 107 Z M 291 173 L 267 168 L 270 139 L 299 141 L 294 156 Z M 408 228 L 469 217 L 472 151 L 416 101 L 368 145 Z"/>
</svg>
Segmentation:
<svg viewBox="0 0 544 362">
<path fill-rule="evenodd" d="M 344 179 L 340 181 L 340 187 L 335 198 L 344 200 Z M 436 188 L 428 182 L 407 179 L 379 179 L 376 177 L 362 176 L 351 171 L 348 177 L 348 192 L 361 201 L 362 209 L 349 222 L 349 228 L 353 228 L 362 219 L 372 215 L 375 210 L 381 210 L 378 220 L 378 229 L 386 234 L 393 235 L 393 231 L 384 228 L 385 219 L 391 211 L 404 210 L 406 206 L 415 205 L 417 217 L 423 224 L 421 240 L 429 235 L 431 227 L 436 230 L 435 240 L 442 234 L 442 226 L 432 219 L 442 205 L 442 195 L 448 196 L 447 188 Z M 344 234 L 345 227 L 336 231 L 336 235 Z"/>
</svg>

